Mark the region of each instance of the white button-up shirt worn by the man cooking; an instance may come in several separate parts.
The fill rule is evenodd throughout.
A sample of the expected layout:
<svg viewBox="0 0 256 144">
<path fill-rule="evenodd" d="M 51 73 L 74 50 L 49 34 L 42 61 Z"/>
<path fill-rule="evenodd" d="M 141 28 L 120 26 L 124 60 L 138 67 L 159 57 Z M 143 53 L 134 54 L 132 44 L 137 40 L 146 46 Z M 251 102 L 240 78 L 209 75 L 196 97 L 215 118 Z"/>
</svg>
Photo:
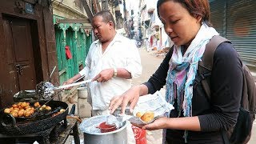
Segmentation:
<svg viewBox="0 0 256 144">
<path fill-rule="evenodd" d="M 142 74 L 141 58 L 134 42 L 119 34 L 102 54 L 102 43 L 98 40 L 90 46 L 86 57 L 86 66 L 79 72 L 87 78 L 94 78 L 102 70 L 109 68 L 125 68 L 132 78 Z M 107 82 L 90 82 L 88 87 L 88 101 L 93 110 L 106 110 L 110 99 L 124 93 L 131 87 L 131 79 L 112 77 Z"/>
</svg>

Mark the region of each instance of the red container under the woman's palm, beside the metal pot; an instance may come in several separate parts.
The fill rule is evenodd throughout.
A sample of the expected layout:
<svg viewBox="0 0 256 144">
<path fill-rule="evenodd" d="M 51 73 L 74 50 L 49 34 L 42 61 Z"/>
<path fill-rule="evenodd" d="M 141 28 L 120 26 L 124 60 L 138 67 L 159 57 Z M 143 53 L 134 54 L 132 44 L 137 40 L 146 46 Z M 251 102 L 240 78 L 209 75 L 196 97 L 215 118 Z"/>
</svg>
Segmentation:
<svg viewBox="0 0 256 144">
<path fill-rule="evenodd" d="M 131 128 L 134 131 L 134 138 L 136 144 L 146 144 L 146 130 L 143 130 L 134 125 L 132 125 Z"/>
</svg>

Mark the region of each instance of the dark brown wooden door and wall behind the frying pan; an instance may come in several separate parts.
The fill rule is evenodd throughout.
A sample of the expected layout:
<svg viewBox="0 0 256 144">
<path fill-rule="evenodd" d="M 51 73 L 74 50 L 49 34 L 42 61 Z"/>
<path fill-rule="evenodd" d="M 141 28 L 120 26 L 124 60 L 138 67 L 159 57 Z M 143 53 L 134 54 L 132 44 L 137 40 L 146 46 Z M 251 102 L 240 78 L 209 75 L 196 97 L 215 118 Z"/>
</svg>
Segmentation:
<svg viewBox="0 0 256 144">
<path fill-rule="evenodd" d="M 20 90 L 48 81 L 57 66 L 50 0 L 2 0 L 0 5 L 0 107 Z M 58 85 L 58 73 L 50 81 Z"/>
</svg>

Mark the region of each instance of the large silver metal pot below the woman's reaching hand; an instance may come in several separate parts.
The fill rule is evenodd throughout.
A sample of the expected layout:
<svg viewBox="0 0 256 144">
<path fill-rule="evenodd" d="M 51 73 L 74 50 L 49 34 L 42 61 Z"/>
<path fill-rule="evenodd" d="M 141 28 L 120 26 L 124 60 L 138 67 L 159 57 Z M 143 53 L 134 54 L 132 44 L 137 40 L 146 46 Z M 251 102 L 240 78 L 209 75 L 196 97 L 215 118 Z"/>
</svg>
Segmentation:
<svg viewBox="0 0 256 144">
<path fill-rule="evenodd" d="M 106 122 L 107 115 L 95 116 L 88 118 L 80 124 L 79 128 L 84 134 L 85 144 L 117 144 L 127 143 L 127 122 L 123 122 L 123 125 L 118 130 L 114 130 L 107 133 L 101 133 L 101 130 L 97 127 L 102 123 Z"/>
</svg>

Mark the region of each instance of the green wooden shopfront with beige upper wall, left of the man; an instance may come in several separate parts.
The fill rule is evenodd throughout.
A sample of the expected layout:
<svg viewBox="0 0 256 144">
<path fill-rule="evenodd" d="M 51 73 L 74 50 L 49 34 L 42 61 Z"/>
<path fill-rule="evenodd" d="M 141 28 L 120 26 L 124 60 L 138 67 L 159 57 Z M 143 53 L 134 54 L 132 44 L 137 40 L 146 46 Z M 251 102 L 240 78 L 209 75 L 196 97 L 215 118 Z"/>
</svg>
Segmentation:
<svg viewBox="0 0 256 144">
<path fill-rule="evenodd" d="M 58 75 L 62 84 L 82 70 L 92 42 L 91 26 L 80 0 L 53 2 Z"/>
</svg>

